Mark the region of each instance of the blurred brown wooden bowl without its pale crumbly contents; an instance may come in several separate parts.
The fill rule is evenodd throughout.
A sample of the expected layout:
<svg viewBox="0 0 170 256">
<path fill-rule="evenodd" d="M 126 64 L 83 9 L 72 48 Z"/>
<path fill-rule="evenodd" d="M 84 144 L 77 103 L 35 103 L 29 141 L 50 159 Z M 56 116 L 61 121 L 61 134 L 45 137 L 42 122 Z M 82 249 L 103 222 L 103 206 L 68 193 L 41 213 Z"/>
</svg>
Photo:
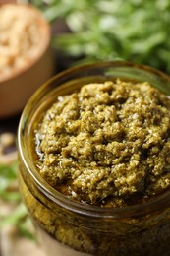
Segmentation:
<svg viewBox="0 0 170 256">
<path fill-rule="evenodd" d="M 19 12 L 33 14 L 38 26 L 40 40 L 34 54 L 24 65 L 11 68 L 6 74 L 0 72 L 0 118 L 9 117 L 22 111 L 28 97 L 46 80 L 48 80 L 54 69 L 52 50 L 50 47 L 51 30 L 47 21 L 40 11 L 31 5 L 3 4 L 3 8 L 17 7 Z M 30 23 L 31 23 L 30 19 Z M 14 34 L 14 36 L 17 36 Z M 0 53 L 1 55 L 1 53 Z M 1 56 L 0 56 L 1 57 Z"/>
</svg>

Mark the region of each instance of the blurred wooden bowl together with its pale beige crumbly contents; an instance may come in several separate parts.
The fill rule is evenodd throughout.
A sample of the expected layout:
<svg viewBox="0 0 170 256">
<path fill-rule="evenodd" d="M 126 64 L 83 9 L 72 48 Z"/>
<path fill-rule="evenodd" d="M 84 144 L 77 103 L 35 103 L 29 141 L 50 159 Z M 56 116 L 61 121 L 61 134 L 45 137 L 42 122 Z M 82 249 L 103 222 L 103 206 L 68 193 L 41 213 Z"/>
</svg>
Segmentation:
<svg viewBox="0 0 170 256">
<path fill-rule="evenodd" d="M 22 111 L 29 96 L 53 74 L 51 32 L 27 4 L 0 5 L 0 118 Z"/>
</svg>

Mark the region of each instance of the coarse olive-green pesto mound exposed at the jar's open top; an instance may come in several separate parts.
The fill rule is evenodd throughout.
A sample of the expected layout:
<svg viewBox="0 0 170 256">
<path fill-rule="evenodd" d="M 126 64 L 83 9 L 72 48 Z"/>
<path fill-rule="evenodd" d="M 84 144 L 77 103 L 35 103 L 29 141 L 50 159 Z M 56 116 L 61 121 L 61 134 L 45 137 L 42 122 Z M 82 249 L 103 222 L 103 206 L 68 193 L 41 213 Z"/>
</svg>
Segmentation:
<svg viewBox="0 0 170 256">
<path fill-rule="evenodd" d="M 170 99 L 117 79 L 59 96 L 35 130 L 40 175 L 73 200 L 145 202 L 170 187 Z"/>
</svg>

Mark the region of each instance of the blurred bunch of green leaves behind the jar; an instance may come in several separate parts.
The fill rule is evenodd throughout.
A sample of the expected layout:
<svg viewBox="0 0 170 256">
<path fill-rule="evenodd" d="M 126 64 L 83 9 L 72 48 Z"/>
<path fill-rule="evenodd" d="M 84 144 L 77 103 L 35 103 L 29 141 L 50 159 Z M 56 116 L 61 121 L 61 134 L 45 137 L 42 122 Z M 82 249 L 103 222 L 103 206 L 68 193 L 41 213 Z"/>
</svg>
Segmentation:
<svg viewBox="0 0 170 256">
<path fill-rule="evenodd" d="M 54 47 L 83 62 L 121 58 L 170 73 L 170 0 L 32 0 L 49 22 L 71 30 Z"/>
</svg>

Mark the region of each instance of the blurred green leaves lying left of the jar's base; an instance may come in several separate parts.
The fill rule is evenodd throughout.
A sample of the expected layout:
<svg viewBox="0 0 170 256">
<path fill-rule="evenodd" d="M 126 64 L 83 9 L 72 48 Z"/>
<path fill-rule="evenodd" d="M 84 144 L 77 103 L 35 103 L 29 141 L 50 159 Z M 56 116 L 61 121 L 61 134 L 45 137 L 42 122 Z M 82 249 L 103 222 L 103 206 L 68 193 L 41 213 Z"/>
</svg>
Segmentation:
<svg viewBox="0 0 170 256">
<path fill-rule="evenodd" d="M 28 210 L 22 202 L 17 182 L 18 162 L 10 165 L 0 164 L 0 199 L 13 209 L 9 214 L 3 214 L 0 206 L 0 229 L 4 226 L 14 226 L 19 235 L 34 239 L 30 230 L 31 221 L 28 218 Z"/>
</svg>

